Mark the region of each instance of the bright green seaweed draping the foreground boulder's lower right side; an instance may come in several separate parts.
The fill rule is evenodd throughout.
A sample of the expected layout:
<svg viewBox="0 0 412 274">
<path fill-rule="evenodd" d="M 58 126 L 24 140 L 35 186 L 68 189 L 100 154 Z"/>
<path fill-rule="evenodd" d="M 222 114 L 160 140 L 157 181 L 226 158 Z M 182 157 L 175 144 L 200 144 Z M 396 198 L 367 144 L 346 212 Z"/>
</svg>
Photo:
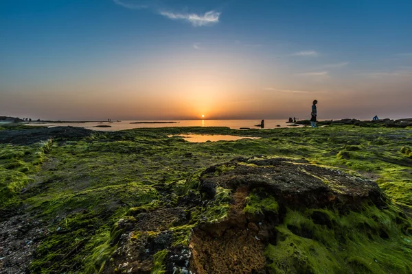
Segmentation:
<svg viewBox="0 0 412 274">
<path fill-rule="evenodd" d="M 411 273 L 411 221 L 396 210 L 366 206 L 340 215 L 288 210 L 265 256 L 274 273 Z"/>
</svg>

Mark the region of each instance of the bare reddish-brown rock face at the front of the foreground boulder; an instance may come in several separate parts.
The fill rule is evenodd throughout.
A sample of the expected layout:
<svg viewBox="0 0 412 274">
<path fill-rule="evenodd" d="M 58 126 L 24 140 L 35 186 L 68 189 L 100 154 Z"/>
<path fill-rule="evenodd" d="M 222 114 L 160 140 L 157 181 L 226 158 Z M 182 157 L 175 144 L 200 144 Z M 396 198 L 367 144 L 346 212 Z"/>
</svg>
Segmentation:
<svg viewBox="0 0 412 274">
<path fill-rule="evenodd" d="M 266 273 L 264 248 L 269 233 L 262 223 L 259 225 L 244 214 L 247 195 L 247 188 L 238 188 L 225 221 L 194 229 L 190 241 L 193 273 Z"/>
</svg>

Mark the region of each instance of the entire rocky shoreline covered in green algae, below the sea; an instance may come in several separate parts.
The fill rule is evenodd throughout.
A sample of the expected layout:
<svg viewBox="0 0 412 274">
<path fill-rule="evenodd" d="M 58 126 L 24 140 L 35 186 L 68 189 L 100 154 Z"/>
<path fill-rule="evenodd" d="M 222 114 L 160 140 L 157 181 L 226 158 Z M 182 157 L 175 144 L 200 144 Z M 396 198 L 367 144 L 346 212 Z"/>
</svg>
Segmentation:
<svg viewBox="0 0 412 274">
<path fill-rule="evenodd" d="M 2 128 L 0 273 L 411 273 L 412 130 L 331 125 Z"/>
</svg>

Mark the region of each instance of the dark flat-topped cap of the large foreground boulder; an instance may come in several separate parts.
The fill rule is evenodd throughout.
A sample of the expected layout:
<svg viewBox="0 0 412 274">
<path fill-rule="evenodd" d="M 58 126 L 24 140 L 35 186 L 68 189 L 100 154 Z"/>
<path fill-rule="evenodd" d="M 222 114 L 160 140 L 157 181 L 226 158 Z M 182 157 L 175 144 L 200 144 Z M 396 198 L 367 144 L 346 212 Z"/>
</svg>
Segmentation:
<svg viewBox="0 0 412 274">
<path fill-rule="evenodd" d="M 211 166 L 203 173 L 201 190 L 209 197 L 217 186 L 230 189 L 247 186 L 250 190 L 264 188 L 290 208 L 354 209 L 365 201 L 385 203 L 376 183 L 304 160 L 251 158 L 233 160 L 227 165 L 235 168 L 216 176 L 218 166 Z"/>
</svg>

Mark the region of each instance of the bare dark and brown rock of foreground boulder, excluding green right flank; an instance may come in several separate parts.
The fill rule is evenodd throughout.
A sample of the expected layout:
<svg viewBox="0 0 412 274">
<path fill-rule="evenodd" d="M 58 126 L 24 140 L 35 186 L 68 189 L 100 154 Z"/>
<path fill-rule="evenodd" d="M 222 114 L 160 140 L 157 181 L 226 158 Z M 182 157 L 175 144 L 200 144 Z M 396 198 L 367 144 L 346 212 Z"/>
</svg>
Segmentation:
<svg viewBox="0 0 412 274">
<path fill-rule="evenodd" d="M 228 203 L 222 189 L 230 190 Z M 277 230 L 287 208 L 340 208 L 358 210 L 367 203 L 383 205 L 385 195 L 367 179 L 343 171 L 288 158 L 237 158 L 211 166 L 201 175 L 200 196 L 191 190 L 174 208 L 137 212 L 117 225 L 122 229 L 116 250 L 104 273 L 150 273 L 164 253 L 165 273 L 268 273 L 266 246 L 276 245 Z M 264 214 L 245 212 L 251 192 L 275 197 L 279 210 Z M 203 197 L 201 199 L 200 197 Z M 208 208 L 228 206 L 218 221 L 210 221 Z M 217 213 L 219 215 L 219 213 Z M 322 212 L 314 223 L 332 227 Z M 179 228 L 188 225 L 187 240 L 176 244 Z M 293 234 L 313 238 L 310 229 L 288 225 Z M 182 272 L 179 272 L 182 271 Z"/>
</svg>

